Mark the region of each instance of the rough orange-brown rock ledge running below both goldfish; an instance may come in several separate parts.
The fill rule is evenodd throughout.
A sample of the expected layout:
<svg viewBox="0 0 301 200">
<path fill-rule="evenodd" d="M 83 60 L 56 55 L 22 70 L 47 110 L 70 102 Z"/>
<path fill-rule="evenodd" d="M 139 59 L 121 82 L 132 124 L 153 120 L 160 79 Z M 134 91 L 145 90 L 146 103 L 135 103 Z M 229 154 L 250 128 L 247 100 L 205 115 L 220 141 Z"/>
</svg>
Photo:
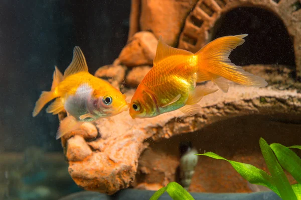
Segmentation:
<svg viewBox="0 0 301 200">
<path fill-rule="evenodd" d="M 208 82 L 205 86 L 213 85 Z M 93 131 L 89 131 L 87 127 L 88 131 L 83 130 L 81 127 L 67 134 L 63 139 L 67 140 L 64 146 L 71 177 L 86 190 L 107 194 L 113 194 L 130 185 L 140 185 L 140 187 L 150 185 L 152 188 L 158 184 L 166 185 L 174 180 L 179 161 L 170 162 L 169 170 L 165 170 L 162 174 L 160 168 L 162 164 L 157 163 L 156 158 L 150 160 L 149 156 L 143 157 L 144 153 L 141 154 L 149 145 L 149 141 L 201 130 L 224 118 L 261 112 L 264 114 L 301 113 L 301 94 L 296 90 L 280 91 L 268 87 L 258 89 L 237 84 L 230 84 L 229 88 L 228 93 L 217 91 L 205 96 L 201 101 L 204 107 L 194 116 L 185 116 L 181 111 L 176 110 L 154 118 L 132 119 L 128 112 L 122 112 L 111 119 L 104 118 L 96 121 L 95 125 L 98 129 L 96 137 L 87 134 L 87 132 L 94 132 L 95 126 L 92 124 L 89 127 Z M 126 93 L 128 101 L 133 91 L 129 90 Z M 74 150 L 73 146 L 76 148 L 80 146 L 82 150 Z M 139 167 L 138 163 L 140 163 Z M 137 170 L 143 170 L 144 179 L 149 181 L 143 184 L 135 182 Z M 152 178 L 156 176 L 156 170 L 162 178 Z"/>
</svg>

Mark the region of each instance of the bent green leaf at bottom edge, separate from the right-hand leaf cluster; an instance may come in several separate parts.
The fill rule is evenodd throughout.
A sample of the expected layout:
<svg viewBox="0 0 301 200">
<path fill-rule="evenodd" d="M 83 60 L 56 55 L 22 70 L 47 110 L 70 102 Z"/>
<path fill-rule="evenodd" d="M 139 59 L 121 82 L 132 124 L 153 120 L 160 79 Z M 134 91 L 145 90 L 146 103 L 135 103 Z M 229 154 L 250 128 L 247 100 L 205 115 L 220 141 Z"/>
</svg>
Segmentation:
<svg viewBox="0 0 301 200">
<path fill-rule="evenodd" d="M 156 191 L 149 200 L 157 200 L 165 191 L 167 191 L 174 200 L 194 200 L 192 195 L 177 182 L 168 183 L 165 187 Z"/>
</svg>

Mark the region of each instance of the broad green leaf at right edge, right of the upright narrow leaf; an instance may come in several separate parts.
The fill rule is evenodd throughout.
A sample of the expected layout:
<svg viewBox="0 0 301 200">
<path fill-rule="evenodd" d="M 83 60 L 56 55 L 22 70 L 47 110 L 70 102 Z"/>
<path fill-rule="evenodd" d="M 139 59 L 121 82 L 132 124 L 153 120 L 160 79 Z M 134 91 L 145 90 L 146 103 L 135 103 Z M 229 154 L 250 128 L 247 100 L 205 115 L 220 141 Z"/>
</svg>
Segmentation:
<svg viewBox="0 0 301 200">
<path fill-rule="evenodd" d="M 282 144 L 272 143 L 270 147 L 274 151 L 281 166 L 285 168 L 298 183 L 301 183 L 301 158 Z"/>
</svg>

